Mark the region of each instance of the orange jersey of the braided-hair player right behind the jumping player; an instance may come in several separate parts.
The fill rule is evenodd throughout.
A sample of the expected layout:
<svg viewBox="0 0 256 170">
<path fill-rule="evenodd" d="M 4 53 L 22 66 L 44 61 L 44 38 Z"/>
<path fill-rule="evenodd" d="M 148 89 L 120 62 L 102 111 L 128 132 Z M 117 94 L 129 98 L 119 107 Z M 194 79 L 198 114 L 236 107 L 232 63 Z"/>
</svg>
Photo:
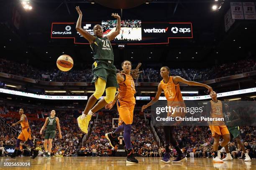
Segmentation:
<svg viewBox="0 0 256 170">
<path fill-rule="evenodd" d="M 128 102 L 131 104 L 136 104 L 134 94 L 136 93 L 135 84 L 133 81 L 133 77 L 131 75 L 123 74 L 125 76 L 125 80 L 119 83 L 119 95 L 118 100 Z"/>
</svg>

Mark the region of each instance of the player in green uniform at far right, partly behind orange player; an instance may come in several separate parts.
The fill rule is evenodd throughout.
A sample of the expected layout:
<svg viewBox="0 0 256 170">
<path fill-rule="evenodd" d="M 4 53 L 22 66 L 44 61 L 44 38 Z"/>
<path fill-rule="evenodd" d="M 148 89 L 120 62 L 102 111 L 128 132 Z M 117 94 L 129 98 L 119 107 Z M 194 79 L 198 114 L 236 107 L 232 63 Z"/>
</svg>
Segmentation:
<svg viewBox="0 0 256 170">
<path fill-rule="evenodd" d="M 240 116 L 236 113 L 235 110 L 232 110 L 232 108 L 227 103 L 225 103 L 225 110 L 226 112 L 224 112 L 224 115 L 225 115 L 226 125 L 230 133 L 230 140 L 234 138 L 236 142 L 241 146 L 243 153 L 245 153 L 246 155 L 246 158 L 244 161 L 251 161 L 250 156 L 246 152 L 246 149 L 240 140 L 240 129 L 238 126 L 238 123 L 241 120 Z M 233 158 L 231 157 L 230 154 L 228 154 L 229 153 L 228 145 L 225 146 L 225 150 L 226 150 L 227 156 L 226 158 L 223 158 L 223 160 L 232 160 Z"/>
</svg>

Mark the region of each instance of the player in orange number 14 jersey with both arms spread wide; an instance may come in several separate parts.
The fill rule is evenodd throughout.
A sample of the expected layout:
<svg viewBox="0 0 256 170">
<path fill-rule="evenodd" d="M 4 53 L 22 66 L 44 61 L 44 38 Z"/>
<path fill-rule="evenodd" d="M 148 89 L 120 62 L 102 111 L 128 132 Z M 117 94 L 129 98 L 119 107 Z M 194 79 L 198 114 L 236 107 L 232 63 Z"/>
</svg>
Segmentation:
<svg viewBox="0 0 256 170">
<path fill-rule="evenodd" d="M 185 103 L 182 98 L 182 94 L 179 88 L 179 82 L 185 83 L 187 85 L 195 85 L 195 86 L 203 86 L 212 91 L 212 87 L 199 83 L 199 82 L 193 82 L 193 81 L 187 81 L 182 77 L 179 76 L 169 76 L 170 69 L 169 67 L 161 67 L 160 74 L 161 77 L 163 77 L 163 80 L 158 85 L 156 96 L 153 100 L 151 100 L 147 105 L 143 105 L 141 108 L 141 111 L 143 112 L 144 109 L 146 109 L 148 106 L 153 105 L 155 102 L 158 101 L 161 92 L 164 90 L 164 95 L 167 99 L 168 106 L 178 106 L 178 107 L 185 107 Z M 172 115 L 168 116 L 171 117 L 184 117 L 186 112 L 172 112 Z M 163 126 L 164 128 L 164 138 L 165 138 L 165 154 L 164 158 L 161 160 L 163 163 L 169 163 L 170 162 L 170 150 L 169 145 L 172 144 L 173 147 L 177 150 L 177 153 L 179 154 L 176 160 L 173 160 L 172 163 L 180 163 L 181 161 L 185 160 L 185 155 L 182 153 L 181 149 L 177 145 L 177 141 L 175 140 L 173 133 L 175 129 L 175 125 L 178 125 L 180 122 L 175 122 L 172 126 Z"/>
</svg>

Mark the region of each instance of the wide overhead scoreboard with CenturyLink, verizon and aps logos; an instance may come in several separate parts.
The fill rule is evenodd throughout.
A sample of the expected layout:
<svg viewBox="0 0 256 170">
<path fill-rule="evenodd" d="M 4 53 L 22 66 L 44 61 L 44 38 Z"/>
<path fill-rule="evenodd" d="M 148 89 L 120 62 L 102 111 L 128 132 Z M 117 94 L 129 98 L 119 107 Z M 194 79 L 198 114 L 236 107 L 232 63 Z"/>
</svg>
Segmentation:
<svg viewBox="0 0 256 170">
<path fill-rule="evenodd" d="M 102 21 L 104 36 L 115 31 L 115 20 Z M 82 23 L 82 28 L 94 35 L 96 22 Z M 76 30 L 76 23 L 52 23 L 51 38 L 72 38 L 75 44 L 89 44 Z M 171 38 L 193 38 L 192 23 L 152 23 L 141 20 L 122 20 L 120 34 L 112 41 L 113 44 L 168 44 Z"/>
</svg>

